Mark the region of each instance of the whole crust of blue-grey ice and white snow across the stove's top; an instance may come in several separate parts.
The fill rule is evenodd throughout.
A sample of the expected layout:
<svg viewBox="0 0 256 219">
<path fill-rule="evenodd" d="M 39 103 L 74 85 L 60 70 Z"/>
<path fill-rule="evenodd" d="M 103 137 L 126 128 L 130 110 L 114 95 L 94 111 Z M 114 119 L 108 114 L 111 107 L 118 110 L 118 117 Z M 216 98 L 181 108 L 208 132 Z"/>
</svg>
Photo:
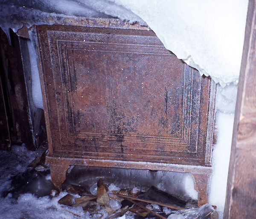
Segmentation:
<svg viewBox="0 0 256 219">
<path fill-rule="evenodd" d="M 118 17 L 148 26 L 167 49 L 221 86 L 238 82 L 248 0 L 0 0 L 0 26 L 53 24 L 62 16 Z"/>
</svg>

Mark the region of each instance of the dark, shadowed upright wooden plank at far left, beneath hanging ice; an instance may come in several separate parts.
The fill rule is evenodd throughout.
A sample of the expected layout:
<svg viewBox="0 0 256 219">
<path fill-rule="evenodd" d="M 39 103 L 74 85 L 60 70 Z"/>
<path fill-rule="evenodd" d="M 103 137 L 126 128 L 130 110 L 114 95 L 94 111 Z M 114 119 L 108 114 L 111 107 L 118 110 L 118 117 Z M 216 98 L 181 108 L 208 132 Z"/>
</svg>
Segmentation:
<svg viewBox="0 0 256 219">
<path fill-rule="evenodd" d="M 3 84 L 6 87 L 6 96 L 9 111 L 9 129 L 12 143 L 21 139 L 26 147 L 35 149 L 31 126 L 29 124 L 26 85 L 20 56 L 20 46 L 17 35 L 10 32 L 12 45 L 9 44 L 6 34 L 0 29 L 0 54 L 3 63 Z"/>
</svg>

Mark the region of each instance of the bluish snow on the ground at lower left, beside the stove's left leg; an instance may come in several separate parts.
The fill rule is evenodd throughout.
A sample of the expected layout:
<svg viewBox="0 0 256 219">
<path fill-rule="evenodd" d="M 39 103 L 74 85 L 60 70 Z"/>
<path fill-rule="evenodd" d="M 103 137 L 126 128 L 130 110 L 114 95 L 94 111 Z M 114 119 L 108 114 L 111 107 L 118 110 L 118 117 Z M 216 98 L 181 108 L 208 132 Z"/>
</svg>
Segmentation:
<svg viewBox="0 0 256 219">
<path fill-rule="evenodd" d="M 41 153 L 39 151 L 29 151 L 23 146 L 12 146 L 12 151 L 0 150 L 0 193 L 11 189 L 11 177 L 18 173 L 23 173 L 31 161 Z M 49 179 L 49 178 L 48 178 Z M 1 219 L 21 219 L 21 218 L 76 218 L 66 210 L 71 208 L 61 206 L 58 200 L 67 193 L 60 193 L 59 196 L 50 198 L 49 196 L 37 198 L 31 193 L 21 194 L 18 199 L 12 198 L 9 193 L 5 198 L 0 196 L 0 218 Z M 66 209 L 66 210 L 63 210 Z M 84 215 L 81 207 L 73 208 L 79 215 Z"/>
</svg>

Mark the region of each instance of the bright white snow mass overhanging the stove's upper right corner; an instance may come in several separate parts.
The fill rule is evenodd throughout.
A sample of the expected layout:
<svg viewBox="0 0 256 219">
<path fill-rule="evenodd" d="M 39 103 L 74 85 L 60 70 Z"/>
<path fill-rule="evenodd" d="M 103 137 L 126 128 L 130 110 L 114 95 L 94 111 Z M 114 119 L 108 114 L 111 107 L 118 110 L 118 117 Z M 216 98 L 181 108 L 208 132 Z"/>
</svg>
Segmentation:
<svg viewBox="0 0 256 219">
<path fill-rule="evenodd" d="M 114 0 L 139 15 L 177 58 L 221 86 L 239 79 L 247 0 Z"/>
</svg>

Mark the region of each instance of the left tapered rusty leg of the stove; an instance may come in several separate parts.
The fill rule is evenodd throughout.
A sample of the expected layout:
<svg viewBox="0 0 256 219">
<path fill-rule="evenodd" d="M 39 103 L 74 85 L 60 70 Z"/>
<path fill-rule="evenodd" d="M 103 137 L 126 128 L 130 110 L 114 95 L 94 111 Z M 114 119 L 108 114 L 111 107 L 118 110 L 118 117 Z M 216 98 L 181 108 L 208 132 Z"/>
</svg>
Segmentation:
<svg viewBox="0 0 256 219">
<path fill-rule="evenodd" d="M 50 164 L 52 183 L 59 191 L 62 190 L 62 183 L 66 179 L 66 172 L 69 168 L 69 164 Z"/>
</svg>

